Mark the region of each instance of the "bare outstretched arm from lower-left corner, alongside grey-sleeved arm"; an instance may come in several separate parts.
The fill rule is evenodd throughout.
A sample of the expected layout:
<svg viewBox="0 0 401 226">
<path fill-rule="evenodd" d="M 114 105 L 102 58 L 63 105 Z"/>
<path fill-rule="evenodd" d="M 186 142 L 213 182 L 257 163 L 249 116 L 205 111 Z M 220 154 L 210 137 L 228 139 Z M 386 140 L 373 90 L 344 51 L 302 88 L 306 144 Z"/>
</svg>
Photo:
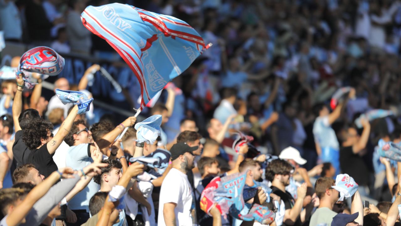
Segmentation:
<svg viewBox="0 0 401 226">
<path fill-rule="evenodd" d="M 74 171 L 72 168 L 62 168 L 60 172 L 63 174 L 72 174 Z M 16 226 L 21 223 L 21 221 L 28 214 L 32 206 L 38 201 L 43 195 L 49 191 L 49 189 L 61 178 L 61 175 L 55 171 L 49 177 L 47 177 L 42 183 L 36 185 L 29 193 L 26 195 L 24 201 L 16 206 L 13 212 L 11 212 L 6 219 L 6 224 L 8 226 Z"/>
</svg>

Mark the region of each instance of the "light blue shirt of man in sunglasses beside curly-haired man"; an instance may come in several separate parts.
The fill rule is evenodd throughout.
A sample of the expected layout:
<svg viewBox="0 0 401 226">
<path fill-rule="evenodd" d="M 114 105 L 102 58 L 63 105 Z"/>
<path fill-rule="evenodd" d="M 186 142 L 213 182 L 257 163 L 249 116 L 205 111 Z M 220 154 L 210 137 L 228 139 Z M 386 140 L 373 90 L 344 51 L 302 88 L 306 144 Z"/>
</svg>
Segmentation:
<svg viewBox="0 0 401 226">
<path fill-rule="evenodd" d="M 90 144 L 80 144 L 71 146 L 65 158 L 65 165 L 80 170 L 91 164 L 93 160 L 90 155 L 88 155 L 89 145 Z M 86 210 L 89 213 L 89 200 L 99 189 L 100 185 L 95 183 L 92 179 L 87 187 L 68 202 L 68 208 L 70 210 Z"/>
</svg>

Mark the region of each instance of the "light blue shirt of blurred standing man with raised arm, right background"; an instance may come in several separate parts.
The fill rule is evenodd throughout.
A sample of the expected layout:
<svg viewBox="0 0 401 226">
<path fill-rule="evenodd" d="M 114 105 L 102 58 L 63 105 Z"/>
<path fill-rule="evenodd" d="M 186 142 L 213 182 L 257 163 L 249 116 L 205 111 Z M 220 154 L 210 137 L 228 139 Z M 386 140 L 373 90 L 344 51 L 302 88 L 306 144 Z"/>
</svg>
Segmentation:
<svg viewBox="0 0 401 226">
<path fill-rule="evenodd" d="M 324 148 L 340 150 L 336 133 L 328 123 L 328 115 L 316 118 L 313 124 L 313 135 L 315 137 L 315 142 L 318 142 L 322 150 Z"/>
</svg>

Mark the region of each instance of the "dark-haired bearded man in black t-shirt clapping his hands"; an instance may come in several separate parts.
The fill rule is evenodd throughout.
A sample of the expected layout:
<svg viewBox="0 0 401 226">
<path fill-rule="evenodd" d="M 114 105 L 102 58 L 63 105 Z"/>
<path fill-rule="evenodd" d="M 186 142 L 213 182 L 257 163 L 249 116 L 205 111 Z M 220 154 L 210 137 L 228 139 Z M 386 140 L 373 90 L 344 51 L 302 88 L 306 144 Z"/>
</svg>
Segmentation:
<svg viewBox="0 0 401 226">
<path fill-rule="evenodd" d="M 300 226 L 302 224 L 301 215 L 306 214 L 302 210 L 304 198 L 306 197 L 306 183 L 298 187 L 298 199 L 295 201 L 292 195 L 286 191 L 286 186 L 290 184 L 290 177 L 294 173 L 294 168 L 286 160 L 275 159 L 266 167 L 266 179 L 271 181 L 273 193 L 278 195 L 284 201 L 286 212 L 284 214 L 283 225 Z M 305 219 L 303 219 L 305 220 Z"/>
</svg>

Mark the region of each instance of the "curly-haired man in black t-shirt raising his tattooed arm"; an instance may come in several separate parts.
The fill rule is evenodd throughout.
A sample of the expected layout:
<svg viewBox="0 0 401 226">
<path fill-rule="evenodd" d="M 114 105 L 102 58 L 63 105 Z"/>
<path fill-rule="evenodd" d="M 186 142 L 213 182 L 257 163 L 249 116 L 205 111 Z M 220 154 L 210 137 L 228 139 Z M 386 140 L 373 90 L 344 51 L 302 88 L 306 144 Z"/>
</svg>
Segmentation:
<svg viewBox="0 0 401 226">
<path fill-rule="evenodd" d="M 70 132 L 77 113 L 78 105 L 75 105 L 55 135 L 51 133 L 53 124 L 43 119 L 30 121 L 23 131 L 22 140 L 31 150 L 28 156 L 28 163 L 34 164 L 45 178 L 57 171 L 53 155 Z"/>
</svg>

